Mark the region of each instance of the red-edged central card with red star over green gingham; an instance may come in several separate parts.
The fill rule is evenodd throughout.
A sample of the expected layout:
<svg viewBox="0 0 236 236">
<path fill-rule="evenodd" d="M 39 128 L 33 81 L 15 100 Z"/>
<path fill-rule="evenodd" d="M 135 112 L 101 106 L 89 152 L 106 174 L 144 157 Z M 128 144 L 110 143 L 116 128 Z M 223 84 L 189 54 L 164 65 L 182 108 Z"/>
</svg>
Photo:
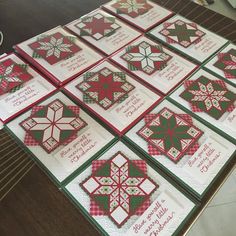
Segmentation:
<svg viewBox="0 0 236 236">
<path fill-rule="evenodd" d="M 109 61 L 79 76 L 64 90 L 119 135 L 161 99 Z"/>
</svg>

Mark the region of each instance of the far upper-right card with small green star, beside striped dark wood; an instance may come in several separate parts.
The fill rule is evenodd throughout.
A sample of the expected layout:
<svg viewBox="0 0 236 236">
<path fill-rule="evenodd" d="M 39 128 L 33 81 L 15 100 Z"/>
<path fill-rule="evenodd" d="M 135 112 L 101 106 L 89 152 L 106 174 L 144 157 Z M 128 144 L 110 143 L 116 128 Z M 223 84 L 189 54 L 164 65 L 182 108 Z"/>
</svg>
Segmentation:
<svg viewBox="0 0 236 236">
<path fill-rule="evenodd" d="M 228 42 L 227 39 L 180 15 L 166 20 L 148 34 L 200 63 Z"/>
</svg>

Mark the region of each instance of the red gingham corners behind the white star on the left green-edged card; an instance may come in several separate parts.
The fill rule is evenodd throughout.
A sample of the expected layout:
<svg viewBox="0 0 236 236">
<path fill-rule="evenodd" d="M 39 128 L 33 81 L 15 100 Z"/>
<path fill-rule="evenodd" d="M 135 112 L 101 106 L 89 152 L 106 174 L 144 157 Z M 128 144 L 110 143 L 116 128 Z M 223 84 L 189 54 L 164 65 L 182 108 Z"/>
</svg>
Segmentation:
<svg viewBox="0 0 236 236">
<path fill-rule="evenodd" d="M 43 108 L 44 106 L 34 106 L 31 110 L 31 114 L 34 114 L 35 112 Z M 80 108 L 78 106 L 68 106 L 68 108 L 71 109 L 74 113 L 79 115 Z M 72 135 L 63 145 L 67 145 L 68 143 L 72 142 L 76 138 L 77 138 L 77 135 Z M 25 134 L 24 144 L 26 146 L 39 146 L 39 143 L 36 142 L 35 139 L 31 135 L 29 135 L 29 133 Z"/>
</svg>

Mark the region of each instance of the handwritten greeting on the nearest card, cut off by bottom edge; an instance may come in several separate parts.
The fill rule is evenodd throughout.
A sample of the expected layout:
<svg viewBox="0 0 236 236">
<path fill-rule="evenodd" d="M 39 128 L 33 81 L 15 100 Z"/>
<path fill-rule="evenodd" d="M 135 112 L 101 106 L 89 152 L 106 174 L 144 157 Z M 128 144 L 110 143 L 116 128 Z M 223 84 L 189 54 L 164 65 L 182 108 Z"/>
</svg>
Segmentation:
<svg viewBox="0 0 236 236">
<path fill-rule="evenodd" d="M 144 214 L 126 233 L 129 236 L 168 235 L 168 228 L 179 217 L 183 208 L 167 193 L 161 193 Z"/>
</svg>

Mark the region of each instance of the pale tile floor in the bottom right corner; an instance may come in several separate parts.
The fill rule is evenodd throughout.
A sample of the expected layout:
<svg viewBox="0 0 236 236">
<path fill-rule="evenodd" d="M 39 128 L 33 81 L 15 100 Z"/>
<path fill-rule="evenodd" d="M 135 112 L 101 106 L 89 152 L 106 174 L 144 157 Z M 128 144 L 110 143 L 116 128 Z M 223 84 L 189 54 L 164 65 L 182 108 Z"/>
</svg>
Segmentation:
<svg viewBox="0 0 236 236">
<path fill-rule="evenodd" d="M 235 236 L 236 168 L 187 236 Z"/>
</svg>

